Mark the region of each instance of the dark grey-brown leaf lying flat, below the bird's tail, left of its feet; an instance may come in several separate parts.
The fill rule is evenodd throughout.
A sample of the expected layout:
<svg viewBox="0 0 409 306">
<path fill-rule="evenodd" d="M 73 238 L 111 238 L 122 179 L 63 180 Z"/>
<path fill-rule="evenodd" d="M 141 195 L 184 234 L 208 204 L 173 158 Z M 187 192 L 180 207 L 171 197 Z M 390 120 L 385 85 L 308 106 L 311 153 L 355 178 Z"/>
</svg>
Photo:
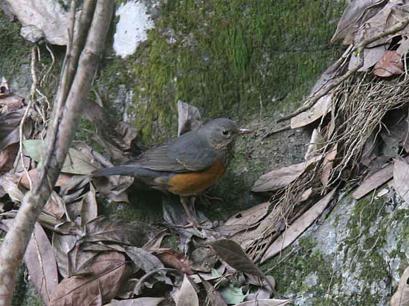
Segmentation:
<svg viewBox="0 0 409 306">
<path fill-rule="evenodd" d="M 142 247 L 159 233 L 144 222 L 98 216 L 85 224 L 85 236 L 79 242 L 109 241 Z"/>
</svg>

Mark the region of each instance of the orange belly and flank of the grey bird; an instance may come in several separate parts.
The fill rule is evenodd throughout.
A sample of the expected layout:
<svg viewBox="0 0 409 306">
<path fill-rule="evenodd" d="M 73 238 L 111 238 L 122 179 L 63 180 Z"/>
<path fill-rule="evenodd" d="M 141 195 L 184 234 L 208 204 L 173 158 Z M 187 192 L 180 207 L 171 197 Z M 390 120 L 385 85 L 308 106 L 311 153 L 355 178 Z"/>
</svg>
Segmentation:
<svg viewBox="0 0 409 306">
<path fill-rule="evenodd" d="M 214 186 L 220 180 L 224 171 L 224 164 L 216 160 L 211 167 L 205 170 L 174 174 L 166 182 L 167 189 L 178 195 L 196 195 Z"/>
</svg>

